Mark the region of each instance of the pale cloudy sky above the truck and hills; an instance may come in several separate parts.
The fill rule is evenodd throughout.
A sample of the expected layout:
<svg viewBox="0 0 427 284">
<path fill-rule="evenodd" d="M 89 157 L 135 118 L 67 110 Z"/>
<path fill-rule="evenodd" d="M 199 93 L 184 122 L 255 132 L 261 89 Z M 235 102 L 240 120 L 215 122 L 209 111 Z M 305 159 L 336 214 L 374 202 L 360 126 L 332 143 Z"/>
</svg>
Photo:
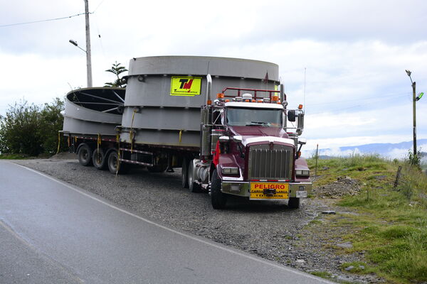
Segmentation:
<svg viewBox="0 0 427 284">
<path fill-rule="evenodd" d="M 0 115 L 85 87 L 84 1 L 0 0 Z M 89 0 L 93 85 L 117 61 L 201 55 L 274 62 L 305 149 L 412 140 L 411 70 L 427 92 L 427 1 Z M 427 138 L 427 97 L 416 102 Z M 427 149 L 424 149 L 427 150 Z"/>
</svg>

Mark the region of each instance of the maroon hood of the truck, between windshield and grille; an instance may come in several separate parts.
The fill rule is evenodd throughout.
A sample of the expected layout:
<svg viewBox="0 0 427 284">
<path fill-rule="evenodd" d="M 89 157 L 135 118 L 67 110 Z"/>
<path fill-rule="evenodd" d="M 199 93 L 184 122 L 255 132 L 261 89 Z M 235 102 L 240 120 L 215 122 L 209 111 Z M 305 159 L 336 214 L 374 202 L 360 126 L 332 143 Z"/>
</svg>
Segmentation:
<svg viewBox="0 0 427 284">
<path fill-rule="evenodd" d="M 288 143 L 292 146 L 294 141 L 289 138 L 280 127 L 267 127 L 267 126 L 229 126 L 231 134 L 242 136 L 242 143 L 246 145 L 253 142 L 281 142 Z"/>
</svg>

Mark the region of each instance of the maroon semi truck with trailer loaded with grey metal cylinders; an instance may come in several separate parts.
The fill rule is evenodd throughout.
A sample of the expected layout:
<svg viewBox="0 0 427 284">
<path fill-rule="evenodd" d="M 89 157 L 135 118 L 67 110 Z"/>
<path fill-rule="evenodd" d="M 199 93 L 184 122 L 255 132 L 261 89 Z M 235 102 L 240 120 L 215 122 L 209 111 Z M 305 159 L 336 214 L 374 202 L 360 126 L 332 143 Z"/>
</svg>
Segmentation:
<svg viewBox="0 0 427 284">
<path fill-rule="evenodd" d="M 102 101 L 107 104 L 103 110 L 96 99 L 89 107 L 102 112 L 102 119 L 90 112 L 79 115 L 78 111 L 88 107 L 81 104 L 85 95 L 99 101 L 103 94 L 94 96 L 90 93 L 93 89 L 68 94 L 63 133 L 80 163 L 93 163 L 115 174 L 129 165 L 146 166 L 151 172 L 181 168 L 182 186 L 191 192 L 209 192 L 215 209 L 226 207 L 231 195 L 249 200 L 288 200 L 291 208 L 298 208 L 300 200 L 310 195 L 310 170 L 300 157 L 305 144 L 300 138 L 302 106 L 287 109 L 283 85 L 255 68 L 270 68 L 271 74 L 277 65 L 230 58 L 140 60 L 140 64 L 131 60 L 125 94 L 98 88 L 98 93 L 108 93 L 109 101 Z M 191 60 L 193 64 L 186 67 Z M 195 73 L 194 65 L 204 60 L 221 68 L 211 67 L 214 75 Z M 150 64 L 153 62 L 157 64 L 155 70 Z M 230 68 L 238 75 L 226 73 Z M 268 84 L 272 88 L 265 88 Z M 214 90 L 220 92 L 214 95 Z M 72 107 L 76 114 L 70 111 Z M 88 119 L 80 124 L 83 116 Z M 102 132 L 96 131 L 97 124 L 90 125 L 93 121 L 104 127 Z M 84 128 L 87 130 L 81 131 Z"/>
</svg>

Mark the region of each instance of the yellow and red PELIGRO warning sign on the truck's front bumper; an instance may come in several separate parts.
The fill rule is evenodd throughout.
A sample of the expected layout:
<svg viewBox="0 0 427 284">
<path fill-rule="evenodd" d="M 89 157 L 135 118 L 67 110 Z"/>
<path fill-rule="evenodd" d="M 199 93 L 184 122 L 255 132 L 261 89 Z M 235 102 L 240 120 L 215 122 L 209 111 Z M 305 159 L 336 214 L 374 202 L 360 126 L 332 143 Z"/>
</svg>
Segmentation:
<svg viewBox="0 0 427 284">
<path fill-rule="evenodd" d="M 251 182 L 250 200 L 287 200 L 288 198 L 288 183 Z"/>
</svg>

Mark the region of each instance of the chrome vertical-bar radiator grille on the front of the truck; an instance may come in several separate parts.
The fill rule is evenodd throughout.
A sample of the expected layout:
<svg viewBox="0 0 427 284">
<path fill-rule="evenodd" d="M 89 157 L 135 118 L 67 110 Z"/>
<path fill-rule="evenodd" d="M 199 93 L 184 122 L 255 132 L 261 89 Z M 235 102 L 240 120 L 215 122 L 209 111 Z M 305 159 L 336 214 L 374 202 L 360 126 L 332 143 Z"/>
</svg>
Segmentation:
<svg viewBox="0 0 427 284">
<path fill-rule="evenodd" d="M 251 179 L 290 180 L 292 178 L 292 148 L 257 145 L 249 148 L 248 175 Z"/>
</svg>

